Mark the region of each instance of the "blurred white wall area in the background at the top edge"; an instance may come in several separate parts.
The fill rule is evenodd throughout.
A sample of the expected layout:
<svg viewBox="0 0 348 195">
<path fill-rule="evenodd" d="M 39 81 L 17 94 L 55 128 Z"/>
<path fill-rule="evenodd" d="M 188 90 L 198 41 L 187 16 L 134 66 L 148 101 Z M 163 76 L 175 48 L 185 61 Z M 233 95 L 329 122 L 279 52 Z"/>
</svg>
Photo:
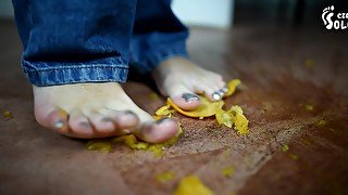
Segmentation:
<svg viewBox="0 0 348 195">
<path fill-rule="evenodd" d="M 172 8 L 187 25 L 227 28 L 233 23 L 234 0 L 173 0 Z"/>
</svg>

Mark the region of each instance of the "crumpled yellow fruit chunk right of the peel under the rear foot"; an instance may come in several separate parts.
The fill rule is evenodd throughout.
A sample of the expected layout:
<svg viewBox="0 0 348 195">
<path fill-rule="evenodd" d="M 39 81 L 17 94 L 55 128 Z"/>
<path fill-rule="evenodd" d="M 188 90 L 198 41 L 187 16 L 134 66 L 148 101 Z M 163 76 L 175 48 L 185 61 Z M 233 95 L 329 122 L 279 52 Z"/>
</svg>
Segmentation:
<svg viewBox="0 0 348 195">
<path fill-rule="evenodd" d="M 235 125 L 235 130 L 237 130 L 239 134 L 247 134 L 249 132 L 249 120 L 243 115 L 241 107 L 237 105 L 232 106 L 229 112 L 233 113 L 233 123 Z"/>
</svg>

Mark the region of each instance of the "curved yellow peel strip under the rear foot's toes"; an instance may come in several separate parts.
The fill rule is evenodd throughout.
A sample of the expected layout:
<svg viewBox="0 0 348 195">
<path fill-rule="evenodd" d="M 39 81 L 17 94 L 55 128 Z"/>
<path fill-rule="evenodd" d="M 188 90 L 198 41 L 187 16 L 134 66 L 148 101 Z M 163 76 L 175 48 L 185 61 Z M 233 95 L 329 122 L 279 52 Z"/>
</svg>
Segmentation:
<svg viewBox="0 0 348 195">
<path fill-rule="evenodd" d="M 201 96 L 201 105 L 197 107 L 195 110 L 183 110 L 181 109 L 175 103 L 167 99 L 167 103 L 178 113 L 194 118 L 202 118 L 202 117 L 210 117 L 216 114 L 216 110 L 221 109 L 224 105 L 223 101 L 219 102 L 209 102 L 206 98 Z"/>
</svg>

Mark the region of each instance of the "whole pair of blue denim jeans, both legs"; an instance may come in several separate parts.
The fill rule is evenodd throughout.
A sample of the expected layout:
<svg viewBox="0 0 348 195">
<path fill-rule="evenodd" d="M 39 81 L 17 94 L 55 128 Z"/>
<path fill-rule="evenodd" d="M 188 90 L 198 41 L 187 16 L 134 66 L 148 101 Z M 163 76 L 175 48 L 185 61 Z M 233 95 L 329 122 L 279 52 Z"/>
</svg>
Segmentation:
<svg viewBox="0 0 348 195">
<path fill-rule="evenodd" d="M 125 82 L 187 56 L 187 28 L 171 0 L 13 0 L 22 67 L 35 86 Z"/>
</svg>

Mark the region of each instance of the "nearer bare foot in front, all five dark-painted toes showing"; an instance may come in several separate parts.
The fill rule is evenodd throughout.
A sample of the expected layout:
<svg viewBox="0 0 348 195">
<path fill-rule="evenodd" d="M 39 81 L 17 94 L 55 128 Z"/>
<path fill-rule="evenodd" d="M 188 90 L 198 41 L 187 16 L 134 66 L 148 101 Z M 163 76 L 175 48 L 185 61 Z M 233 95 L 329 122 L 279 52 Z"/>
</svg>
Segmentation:
<svg viewBox="0 0 348 195">
<path fill-rule="evenodd" d="M 33 87 L 37 121 L 74 138 L 134 133 L 151 143 L 177 132 L 174 119 L 154 121 L 116 82 Z"/>
</svg>

